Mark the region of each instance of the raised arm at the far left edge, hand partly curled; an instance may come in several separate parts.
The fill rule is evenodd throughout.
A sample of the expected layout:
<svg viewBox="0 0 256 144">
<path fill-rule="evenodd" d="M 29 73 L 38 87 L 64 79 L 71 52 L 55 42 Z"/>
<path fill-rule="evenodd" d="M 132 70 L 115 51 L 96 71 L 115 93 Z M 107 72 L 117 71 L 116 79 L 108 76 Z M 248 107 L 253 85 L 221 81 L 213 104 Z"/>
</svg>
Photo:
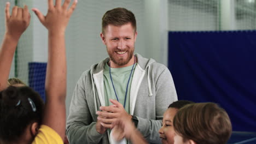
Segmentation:
<svg viewBox="0 0 256 144">
<path fill-rule="evenodd" d="M 19 8 L 13 7 L 9 12 L 10 3 L 5 6 L 5 33 L 3 43 L 0 49 L 0 91 L 7 87 L 7 80 L 10 73 L 11 61 L 13 61 L 14 52 L 22 33 L 30 24 L 30 13 L 27 5 Z"/>
</svg>

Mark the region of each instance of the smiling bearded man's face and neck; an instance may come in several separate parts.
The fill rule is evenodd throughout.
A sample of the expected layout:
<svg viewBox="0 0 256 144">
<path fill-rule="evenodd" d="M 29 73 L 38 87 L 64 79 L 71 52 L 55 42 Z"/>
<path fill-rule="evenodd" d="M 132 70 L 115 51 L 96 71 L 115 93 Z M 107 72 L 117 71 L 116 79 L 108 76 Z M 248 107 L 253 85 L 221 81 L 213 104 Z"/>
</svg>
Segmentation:
<svg viewBox="0 0 256 144">
<path fill-rule="evenodd" d="M 131 23 L 123 26 L 108 25 L 104 29 L 104 34 L 101 33 L 101 39 L 107 47 L 111 67 L 120 68 L 133 64 L 136 37 L 137 32 L 134 32 Z"/>
</svg>

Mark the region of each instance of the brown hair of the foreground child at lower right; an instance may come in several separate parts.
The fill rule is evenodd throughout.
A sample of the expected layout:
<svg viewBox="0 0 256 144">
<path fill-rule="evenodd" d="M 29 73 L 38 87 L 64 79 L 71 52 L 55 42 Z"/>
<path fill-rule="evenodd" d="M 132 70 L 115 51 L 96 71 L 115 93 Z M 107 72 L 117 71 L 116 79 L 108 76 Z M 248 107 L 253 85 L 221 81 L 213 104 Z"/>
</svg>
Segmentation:
<svg viewBox="0 0 256 144">
<path fill-rule="evenodd" d="M 215 103 L 182 107 L 174 116 L 173 126 L 184 142 L 193 140 L 200 144 L 224 144 L 232 131 L 228 113 Z"/>
</svg>

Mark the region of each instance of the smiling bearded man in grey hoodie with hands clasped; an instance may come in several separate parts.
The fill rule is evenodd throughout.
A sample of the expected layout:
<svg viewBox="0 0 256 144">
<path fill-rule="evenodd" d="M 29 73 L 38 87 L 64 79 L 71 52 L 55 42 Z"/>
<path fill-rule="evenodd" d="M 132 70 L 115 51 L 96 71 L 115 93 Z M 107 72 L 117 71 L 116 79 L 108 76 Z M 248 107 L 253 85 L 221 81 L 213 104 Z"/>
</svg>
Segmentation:
<svg viewBox="0 0 256 144">
<path fill-rule="evenodd" d="M 137 31 L 131 11 L 107 11 L 100 36 L 109 58 L 92 65 L 77 82 L 67 120 L 69 142 L 109 143 L 110 129 L 125 118 L 149 143 L 161 143 L 162 115 L 177 100 L 170 71 L 133 53 Z"/>
</svg>

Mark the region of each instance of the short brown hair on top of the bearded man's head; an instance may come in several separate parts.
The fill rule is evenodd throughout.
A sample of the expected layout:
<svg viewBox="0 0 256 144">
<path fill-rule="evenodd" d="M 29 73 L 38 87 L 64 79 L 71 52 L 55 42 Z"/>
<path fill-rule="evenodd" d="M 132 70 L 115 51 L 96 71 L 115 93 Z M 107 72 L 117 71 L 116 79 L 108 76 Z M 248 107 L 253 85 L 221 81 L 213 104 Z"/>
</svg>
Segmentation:
<svg viewBox="0 0 256 144">
<path fill-rule="evenodd" d="M 108 25 L 123 26 L 131 23 L 134 32 L 136 32 L 136 19 L 134 14 L 125 8 L 114 8 L 108 10 L 102 17 L 102 33 Z"/>
</svg>

